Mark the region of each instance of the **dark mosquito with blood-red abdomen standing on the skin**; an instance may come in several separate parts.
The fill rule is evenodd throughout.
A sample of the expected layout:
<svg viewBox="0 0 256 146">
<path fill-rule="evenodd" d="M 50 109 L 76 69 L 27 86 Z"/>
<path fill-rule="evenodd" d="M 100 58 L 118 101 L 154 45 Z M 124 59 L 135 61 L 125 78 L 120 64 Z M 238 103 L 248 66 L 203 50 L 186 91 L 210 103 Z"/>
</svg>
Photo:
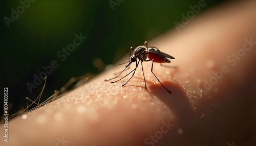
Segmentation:
<svg viewBox="0 0 256 146">
<path fill-rule="evenodd" d="M 133 55 L 131 56 L 131 53 L 133 51 Z M 170 56 L 168 54 L 165 54 L 163 52 L 161 52 L 157 47 L 154 47 L 154 46 L 147 46 L 147 42 L 145 41 L 143 45 L 140 45 L 140 46 L 137 46 L 135 49 L 133 47 L 130 48 L 130 61 L 128 62 L 125 62 L 125 63 L 128 63 L 125 68 L 121 71 L 121 73 L 114 77 L 114 78 L 111 78 L 111 79 L 106 79 L 105 81 L 110 81 L 110 80 L 113 80 L 113 79 L 116 79 L 117 77 L 119 77 L 122 72 L 127 68 L 129 67 L 133 62 L 136 62 L 136 66 L 135 68 L 129 72 L 129 74 L 125 75 L 124 77 L 120 78 L 119 80 L 117 81 L 114 81 L 114 82 L 111 82 L 111 83 L 115 83 L 115 82 L 118 82 L 120 80 L 122 80 L 123 78 L 127 77 L 128 75 L 130 75 L 132 72 L 133 72 L 133 75 L 132 77 L 126 81 L 122 86 L 126 85 L 134 76 L 135 72 L 136 72 L 136 69 L 138 68 L 139 66 L 139 63 L 141 62 L 141 67 L 142 67 L 142 73 L 143 73 L 143 78 L 144 78 L 144 83 L 145 83 L 145 89 L 146 89 L 146 80 L 145 80 L 145 76 L 144 76 L 144 70 L 143 70 L 143 65 L 142 65 L 142 62 L 143 61 L 152 61 L 152 66 L 151 66 L 151 72 L 152 74 L 156 77 L 157 81 L 169 92 L 169 93 L 172 93 L 170 90 L 168 90 L 160 81 L 159 79 L 157 78 L 157 76 L 154 74 L 153 72 L 153 65 L 154 65 L 154 62 L 155 63 L 170 63 L 170 60 L 168 60 L 167 58 L 169 59 L 175 59 L 173 56 Z M 124 64 L 124 63 L 122 63 Z M 117 65 L 122 65 L 122 64 L 117 64 Z"/>
</svg>

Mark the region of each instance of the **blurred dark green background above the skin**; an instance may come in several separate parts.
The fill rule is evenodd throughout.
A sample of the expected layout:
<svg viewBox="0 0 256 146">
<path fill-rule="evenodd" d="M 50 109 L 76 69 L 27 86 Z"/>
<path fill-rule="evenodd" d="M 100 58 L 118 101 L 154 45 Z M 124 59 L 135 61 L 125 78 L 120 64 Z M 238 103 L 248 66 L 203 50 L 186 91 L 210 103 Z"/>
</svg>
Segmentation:
<svg viewBox="0 0 256 146">
<path fill-rule="evenodd" d="M 189 6 L 200 2 L 33 1 L 0 1 L 1 89 L 8 87 L 8 102 L 12 105 L 9 114 L 31 104 L 26 97 L 37 98 L 44 81 L 31 92 L 27 84 L 34 84 L 34 75 L 45 71 L 42 66 L 51 65 L 53 60 L 59 64 L 47 76 L 41 98 L 44 101 L 72 77 L 88 72 L 99 74 L 104 64 L 115 63 L 130 51 L 130 46 L 143 44 L 174 28 L 174 22 L 181 21 L 181 14 L 186 15 L 191 10 Z M 221 2 L 205 1 L 200 13 Z M 18 15 L 12 14 L 13 11 Z M 87 39 L 66 55 L 66 59 L 57 56 L 80 33 Z M 95 59 L 101 60 L 103 67 L 96 67 Z"/>
</svg>

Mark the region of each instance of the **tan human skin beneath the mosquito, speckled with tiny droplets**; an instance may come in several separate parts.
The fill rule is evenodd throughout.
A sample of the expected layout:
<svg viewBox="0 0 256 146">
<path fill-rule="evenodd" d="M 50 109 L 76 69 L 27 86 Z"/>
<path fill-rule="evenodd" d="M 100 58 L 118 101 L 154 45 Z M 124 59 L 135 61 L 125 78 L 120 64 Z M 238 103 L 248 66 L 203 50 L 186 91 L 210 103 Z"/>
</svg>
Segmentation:
<svg viewBox="0 0 256 146">
<path fill-rule="evenodd" d="M 153 69 L 172 94 L 151 73 L 151 62 L 143 62 L 147 89 L 140 65 L 123 87 L 129 78 L 105 82 L 124 67 L 116 66 L 26 119 L 9 121 L 1 145 L 255 144 L 255 8 L 255 1 L 222 4 L 180 32 L 148 41 L 176 58 L 170 66 L 178 68 Z"/>
</svg>

